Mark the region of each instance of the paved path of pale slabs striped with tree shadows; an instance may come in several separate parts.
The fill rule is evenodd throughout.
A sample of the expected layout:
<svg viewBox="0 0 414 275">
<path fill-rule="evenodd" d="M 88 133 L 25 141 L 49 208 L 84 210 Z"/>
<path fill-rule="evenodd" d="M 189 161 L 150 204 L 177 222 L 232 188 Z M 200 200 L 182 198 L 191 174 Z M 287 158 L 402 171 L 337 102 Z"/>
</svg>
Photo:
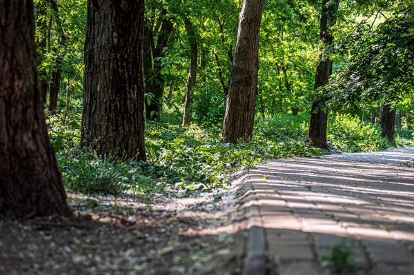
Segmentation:
<svg viewBox="0 0 414 275">
<path fill-rule="evenodd" d="M 358 274 L 414 274 L 414 149 L 288 159 L 246 175 L 278 274 L 329 274 L 318 262 L 346 238 Z M 254 215 L 253 215 L 254 216 Z"/>
</svg>

